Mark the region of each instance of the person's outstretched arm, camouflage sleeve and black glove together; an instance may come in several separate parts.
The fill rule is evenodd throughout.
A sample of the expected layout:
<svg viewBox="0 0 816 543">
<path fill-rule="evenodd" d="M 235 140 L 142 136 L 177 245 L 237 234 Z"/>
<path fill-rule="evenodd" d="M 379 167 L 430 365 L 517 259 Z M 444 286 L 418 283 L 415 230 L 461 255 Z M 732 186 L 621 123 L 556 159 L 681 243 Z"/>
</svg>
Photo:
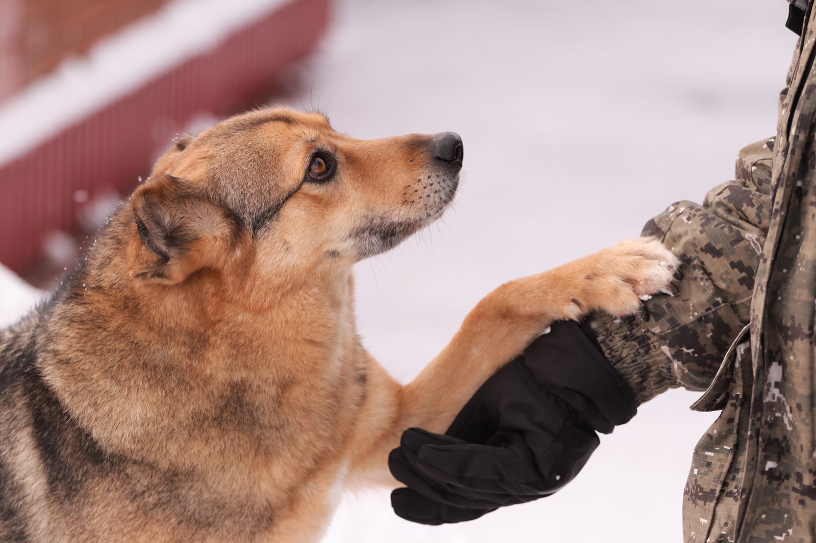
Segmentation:
<svg viewBox="0 0 816 543">
<path fill-rule="evenodd" d="M 749 320 L 769 222 L 769 145 L 744 148 L 737 180 L 703 205 L 678 202 L 646 225 L 645 236 L 683 261 L 679 294 L 646 301 L 645 318 L 598 317 L 594 332 L 553 325 L 490 377 L 446 435 L 406 430 L 388 458 L 407 487 L 392 493 L 395 512 L 455 523 L 548 496 L 578 474 L 596 432 L 628 422 L 667 388 L 706 388 Z"/>
</svg>

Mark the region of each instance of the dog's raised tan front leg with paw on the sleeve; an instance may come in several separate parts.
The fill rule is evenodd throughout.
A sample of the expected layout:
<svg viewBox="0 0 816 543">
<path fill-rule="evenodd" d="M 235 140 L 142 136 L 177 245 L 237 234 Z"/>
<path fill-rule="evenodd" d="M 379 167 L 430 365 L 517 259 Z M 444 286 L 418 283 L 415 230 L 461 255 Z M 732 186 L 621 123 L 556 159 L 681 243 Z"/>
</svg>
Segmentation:
<svg viewBox="0 0 816 543">
<path fill-rule="evenodd" d="M 667 288 L 677 263 L 658 241 L 624 241 L 501 285 L 473 308 L 448 346 L 406 386 L 373 364 L 370 400 L 379 404 L 384 432 L 354 465 L 393 483 L 386 458 L 403 430 L 420 426 L 444 432 L 478 387 L 552 322 L 576 320 L 590 311 L 631 315 L 640 308 L 640 296 Z"/>
</svg>

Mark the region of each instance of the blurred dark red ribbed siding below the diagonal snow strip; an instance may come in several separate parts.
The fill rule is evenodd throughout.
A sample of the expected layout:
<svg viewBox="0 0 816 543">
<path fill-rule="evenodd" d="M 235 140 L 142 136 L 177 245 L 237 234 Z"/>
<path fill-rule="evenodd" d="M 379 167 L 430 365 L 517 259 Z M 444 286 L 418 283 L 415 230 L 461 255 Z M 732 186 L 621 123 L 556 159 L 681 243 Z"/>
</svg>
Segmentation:
<svg viewBox="0 0 816 543">
<path fill-rule="evenodd" d="M 171 71 L 0 164 L 0 262 L 24 272 L 47 232 L 70 232 L 73 195 L 126 194 L 156 157 L 157 120 L 166 142 L 197 113 L 234 113 L 257 103 L 286 66 L 308 53 L 329 20 L 330 0 L 294 0 Z M 2 130 L 2 127 L 0 127 Z"/>
</svg>

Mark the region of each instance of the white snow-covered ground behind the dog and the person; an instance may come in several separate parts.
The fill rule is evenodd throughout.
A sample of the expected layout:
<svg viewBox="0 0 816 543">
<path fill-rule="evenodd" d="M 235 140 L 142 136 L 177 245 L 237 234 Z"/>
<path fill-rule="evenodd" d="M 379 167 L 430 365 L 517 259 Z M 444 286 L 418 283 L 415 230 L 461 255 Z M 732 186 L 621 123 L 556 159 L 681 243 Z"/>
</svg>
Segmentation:
<svg viewBox="0 0 816 543">
<path fill-rule="evenodd" d="M 786 14 L 782 0 L 339 2 L 282 101 L 357 137 L 453 130 L 465 147 L 455 208 L 357 266 L 366 347 L 408 381 L 501 282 L 733 179 L 738 149 L 774 133 Z M 0 268 L 0 325 L 39 295 Z M 688 409 L 697 396 L 641 406 L 553 497 L 424 527 L 387 492 L 348 495 L 325 541 L 680 541 L 690 453 L 716 417 Z"/>
</svg>

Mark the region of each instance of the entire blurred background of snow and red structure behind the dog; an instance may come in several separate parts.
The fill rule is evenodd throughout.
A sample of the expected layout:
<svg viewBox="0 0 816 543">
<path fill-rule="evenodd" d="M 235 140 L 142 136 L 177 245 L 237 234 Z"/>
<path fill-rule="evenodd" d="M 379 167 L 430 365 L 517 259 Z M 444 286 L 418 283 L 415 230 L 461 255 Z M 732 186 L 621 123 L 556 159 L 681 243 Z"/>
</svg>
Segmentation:
<svg viewBox="0 0 816 543">
<path fill-rule="evenodd" d="M 360 138 L 463 136 L 454 209 L 357 266 L 366 347 L 408 381 L 499 283 L 733 179 L 738 149 L 774 134 L 786 15 L 782 0 L 0 0 L 0 325 L 177 134 L 276 102 Z M 697 395 L 641 406 L 547 499 L 430 528 L 387 492 L 349 495 L 326 541 L 680 541 L 690 453 L 716 417 L 688 409 Z"/>
</svg>

